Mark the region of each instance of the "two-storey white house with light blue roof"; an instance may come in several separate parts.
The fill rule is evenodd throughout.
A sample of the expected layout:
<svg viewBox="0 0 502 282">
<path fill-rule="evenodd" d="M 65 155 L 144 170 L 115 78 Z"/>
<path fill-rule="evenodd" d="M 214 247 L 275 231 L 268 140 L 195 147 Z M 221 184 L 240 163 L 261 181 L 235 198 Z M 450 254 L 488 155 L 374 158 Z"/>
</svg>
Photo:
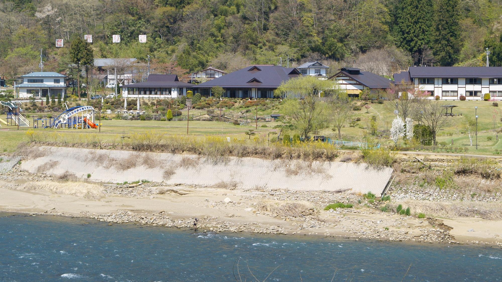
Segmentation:
<svg viewBox="0 0 502 282">
<path fill-rule="evenodd" d="M 66 95 L 66 75 L 57 72 L 32 72 L 22 75 L 23 83 L 16 86 L 20 98 L 35 96 L 42 98 L 49 96 L 61 97 Z"/>
</svg>

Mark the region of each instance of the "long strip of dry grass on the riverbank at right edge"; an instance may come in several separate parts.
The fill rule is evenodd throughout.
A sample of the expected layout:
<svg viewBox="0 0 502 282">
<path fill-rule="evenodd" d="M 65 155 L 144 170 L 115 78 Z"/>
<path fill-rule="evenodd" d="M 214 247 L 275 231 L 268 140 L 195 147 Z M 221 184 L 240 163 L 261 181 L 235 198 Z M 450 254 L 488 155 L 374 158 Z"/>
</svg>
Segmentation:
<svg viewBox="0 0 502 282">
<path fill-rule="evenodd" d="M 405 200 L 390 204 L 393 209 L 398 205 L 410 207 L 412 214 L 424 213 L 431 217 L 480 217 L 488 220 L 502 219 L 502 203 L 496 202 L 432 202 Z"/>
</svg>

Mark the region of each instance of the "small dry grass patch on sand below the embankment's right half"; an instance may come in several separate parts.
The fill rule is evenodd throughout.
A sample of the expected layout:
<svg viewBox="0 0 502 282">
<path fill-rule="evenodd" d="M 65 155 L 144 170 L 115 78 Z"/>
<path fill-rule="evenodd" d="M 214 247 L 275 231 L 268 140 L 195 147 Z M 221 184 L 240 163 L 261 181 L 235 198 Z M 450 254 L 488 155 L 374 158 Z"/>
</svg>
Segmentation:
<svg viewBox="0 0 502 282">
<path fill-rule="evenodd" d="M 255 205 L 260 212 L 275 213 L 280 216 L 302 216 L 314 213 L 314 206 L 309 202 L 274 202 L 262 200 Z"/>
</svg>

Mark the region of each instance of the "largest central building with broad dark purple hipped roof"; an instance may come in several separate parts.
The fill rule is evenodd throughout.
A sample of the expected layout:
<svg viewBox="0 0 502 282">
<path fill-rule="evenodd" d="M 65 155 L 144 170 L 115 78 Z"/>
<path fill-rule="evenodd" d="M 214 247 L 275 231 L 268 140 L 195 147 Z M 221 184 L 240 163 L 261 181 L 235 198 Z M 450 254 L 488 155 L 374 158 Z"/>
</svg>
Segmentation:
<svg viewBox="0 0 502 282">
<path fill-rule="evenodd" d="M 211 88 L 220 86 L 225 90 L 224 97 L 228 98 L 273 98 L 274 90 L 282 82 L 300 75 L 296 68 L 252 65 L 194 85 L 194 88 L 203 96 L 210 96 Z"/>
</svg>

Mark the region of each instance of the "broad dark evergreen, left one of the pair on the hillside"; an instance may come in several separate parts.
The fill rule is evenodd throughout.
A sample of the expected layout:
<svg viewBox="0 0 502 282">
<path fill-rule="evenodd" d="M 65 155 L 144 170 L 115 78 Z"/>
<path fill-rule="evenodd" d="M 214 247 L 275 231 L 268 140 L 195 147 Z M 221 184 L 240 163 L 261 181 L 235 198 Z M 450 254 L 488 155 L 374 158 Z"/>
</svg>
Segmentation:
<svg viewBox="0 0 502 282">
<path fill-rule="evenodd" d="M 420 58 L 431 42 L 432 0 L 404 0 L 396 7 L 394 33 L 399 47 Z M 418 59 L 415 63 L 422 64 Z"/>
</svg>

